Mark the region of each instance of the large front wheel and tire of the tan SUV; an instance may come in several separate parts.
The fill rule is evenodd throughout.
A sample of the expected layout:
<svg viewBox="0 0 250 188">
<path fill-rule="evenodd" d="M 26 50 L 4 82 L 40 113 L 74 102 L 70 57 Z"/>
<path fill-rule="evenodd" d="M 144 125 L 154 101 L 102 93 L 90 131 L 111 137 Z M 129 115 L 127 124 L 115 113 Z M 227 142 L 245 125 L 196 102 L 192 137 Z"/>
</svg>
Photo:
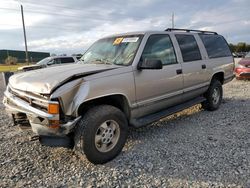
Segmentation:
<svg viewBox="0 0 250 188">
<path fill-rule="evenodd" d="M 87 111 L 74 131 L 74 149 L 94 164 L 115 158 L 125 145 L 128 122 L 124 113 L 110 105 Z"/>
</svg>

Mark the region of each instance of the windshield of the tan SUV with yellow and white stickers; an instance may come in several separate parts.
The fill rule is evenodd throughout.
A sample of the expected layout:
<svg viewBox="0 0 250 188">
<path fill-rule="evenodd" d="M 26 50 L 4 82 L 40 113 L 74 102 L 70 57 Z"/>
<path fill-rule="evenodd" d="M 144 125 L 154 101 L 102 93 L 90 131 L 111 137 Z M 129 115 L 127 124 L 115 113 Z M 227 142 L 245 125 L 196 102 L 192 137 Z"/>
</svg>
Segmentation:
<svg viewBox="0 0 250 188">
<path fill-rule="evenodd" d="M 85 52 L 80 63 L 130 65 L 141 38 L 133 35 L 100 39 Z"/>
</svg>

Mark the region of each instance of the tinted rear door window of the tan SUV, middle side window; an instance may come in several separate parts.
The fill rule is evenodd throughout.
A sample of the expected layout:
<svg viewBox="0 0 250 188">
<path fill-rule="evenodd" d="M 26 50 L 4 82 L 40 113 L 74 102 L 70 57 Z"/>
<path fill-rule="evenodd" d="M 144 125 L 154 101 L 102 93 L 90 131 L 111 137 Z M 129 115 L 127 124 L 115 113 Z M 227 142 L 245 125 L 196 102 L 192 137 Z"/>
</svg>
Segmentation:
<svg viewBox="0 0 250 188">
<path fill-rule="evenodd" d="M 201 59 L 200 49 L 193 35 L 175 35 L 184 62 L 196 61 Z"/>
</svg>

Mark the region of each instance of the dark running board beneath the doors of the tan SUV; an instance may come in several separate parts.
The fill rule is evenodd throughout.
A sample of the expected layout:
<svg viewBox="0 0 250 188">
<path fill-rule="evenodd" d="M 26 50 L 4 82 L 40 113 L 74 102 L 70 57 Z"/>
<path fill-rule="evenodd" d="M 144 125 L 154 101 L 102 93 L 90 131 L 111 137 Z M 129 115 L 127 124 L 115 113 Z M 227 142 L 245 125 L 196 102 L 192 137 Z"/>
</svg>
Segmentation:
<svg viewBox="0 0 250 188">
<path fill-rule="evenodd" d="M 179 104 L 179 105 L 176 105 L 176 106 L 173 106 L 173 107 L 170 107 L 170 108 L 167 108 L 165 110 L 162 110 L 162 111 L 159 111 L 159 112 L 156 112 L 154 114 L 150 114 L 150 115 L 147 115 L 147 116 L 144 116 L 144 117 L 141 117 L 141 118 L 138 118 L 138 119 L 132 119 L 130 121 L 130 124 L 133 126 L 133 127 L 136 127 L 136 128 L 139 128 L 139 127 L 142 127 L 142 126 L 145 126 L 145 125 L 148 125 L 150 123 L 153 123 L 155 121 L 158 121 L 160 120 L 161 118 L 163 117 L 166 117 L 166 116 L 169 116 L 169 115 L 172 115 L 176 112 L 179 112 L 179 111 L 182 111 L 186 108 L 189 108 L 191 106 L 194 106 L 196 104 L 199 104 L 203 101 L 205 101 L 206 99 L 204 97 L 198 97 L 198 98 L 195 98 L 195 99 L 192 99 L 192 100 L 189 100 L 185 103 L 182 103 L 182 104 Z"/>
</svg>

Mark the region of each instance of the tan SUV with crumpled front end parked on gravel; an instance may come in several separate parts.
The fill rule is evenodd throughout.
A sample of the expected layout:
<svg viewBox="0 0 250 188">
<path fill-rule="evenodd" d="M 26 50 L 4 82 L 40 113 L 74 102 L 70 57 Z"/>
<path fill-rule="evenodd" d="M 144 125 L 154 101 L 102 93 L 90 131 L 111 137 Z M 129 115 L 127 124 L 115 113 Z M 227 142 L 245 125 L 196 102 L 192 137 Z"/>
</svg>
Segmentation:
<svg viewBox="0 0 250 188">
<path fill-rule="evenodd" d="M 4 104 L 15 125 L 40 142 L 71 146 L 94 164 L 117 156 L 128 127 L 141 127 L 201 103 L 216 110 L 234 77 L 225 39 L 167 29 L 95 42 L 77 64 L 12 76 Z"/>
</svg>

